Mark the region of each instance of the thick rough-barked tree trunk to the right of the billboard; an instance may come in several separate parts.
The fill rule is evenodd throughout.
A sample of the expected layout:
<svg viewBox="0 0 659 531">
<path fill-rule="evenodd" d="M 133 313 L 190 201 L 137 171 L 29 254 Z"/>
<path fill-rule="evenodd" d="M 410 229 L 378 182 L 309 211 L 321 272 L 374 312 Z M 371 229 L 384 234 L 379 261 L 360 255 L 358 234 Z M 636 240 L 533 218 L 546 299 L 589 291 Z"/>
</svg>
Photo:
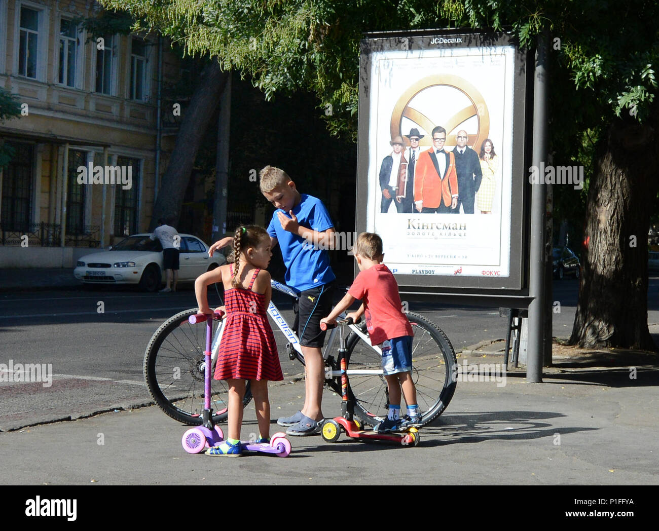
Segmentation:
<svg viewBox="0 0 659 531">
<path fill-rule="evenodd" d="M 569 343 L 656 350 L 648 331 L 648 229 L 659 190 L 658 106 L 616 120 L 590 180 L 579 303 Z"/>
</svg>

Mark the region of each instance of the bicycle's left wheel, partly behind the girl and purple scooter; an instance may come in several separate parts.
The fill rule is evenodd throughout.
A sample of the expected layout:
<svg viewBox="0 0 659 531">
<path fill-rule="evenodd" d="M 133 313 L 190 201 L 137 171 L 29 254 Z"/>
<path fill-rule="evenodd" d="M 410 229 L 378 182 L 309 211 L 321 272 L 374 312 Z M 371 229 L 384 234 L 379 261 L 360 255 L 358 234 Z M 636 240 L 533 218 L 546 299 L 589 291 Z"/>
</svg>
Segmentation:
<svg viewBox="0 0 659 531">
<path fill-rule="evenodd" d="M 206 322 L 191 325 L 188 317 L 197 313 L 190 308 L 162 323 L 152 335 L 144 352 L 144 379 L 159 408 L 183 424 L 202 424 L 204 410 L 204 350 Z M 213 335 L 220 321 L 213 321 Z M 212 367 L 214 370 L 214 367 Z M 229 387 L 226 381 L 211 379 L 213 421 L 227 418 Z M 252 399 L 249 382 L 243 405 Z"/>
</svg>

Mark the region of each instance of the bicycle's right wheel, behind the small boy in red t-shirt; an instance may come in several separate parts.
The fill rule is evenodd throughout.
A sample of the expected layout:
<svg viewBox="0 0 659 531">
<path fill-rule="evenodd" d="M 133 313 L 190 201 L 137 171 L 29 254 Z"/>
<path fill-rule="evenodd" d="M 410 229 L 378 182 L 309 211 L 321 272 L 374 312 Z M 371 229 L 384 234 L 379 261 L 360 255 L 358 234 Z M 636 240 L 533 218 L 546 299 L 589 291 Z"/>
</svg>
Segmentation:
<svg viewBox="0 0 659 531">
<path fill-rule="evenodd" d="M 432 321 L 407 313 L 414 331 L 412 343 L 412 377 L 416 387 L 416 403 L 422 414 L 422 424 L 428 424 L 442 414 L 455 393 L 457 360 L 453 345 L 445 333 Z M 366 325 L 362 324 L 366 333 Z M 382 374 L 379 352 L 351 333 L 347 341 L 348 396 L 355 405 L 355 415 L 375 426 L 387 418 L 389 393 Z"/>
</svg>

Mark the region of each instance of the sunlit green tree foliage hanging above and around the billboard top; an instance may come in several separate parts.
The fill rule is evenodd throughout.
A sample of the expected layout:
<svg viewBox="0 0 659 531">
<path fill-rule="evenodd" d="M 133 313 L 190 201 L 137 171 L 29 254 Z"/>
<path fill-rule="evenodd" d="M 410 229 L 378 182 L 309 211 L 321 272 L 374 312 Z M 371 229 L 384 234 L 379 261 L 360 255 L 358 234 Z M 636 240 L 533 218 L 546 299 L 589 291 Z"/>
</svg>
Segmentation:
<svg viewBox="0 0 659 531">
<path fill-rule="evenodd" d="M 552 90 L 581 101 L 589 122 L 631 113 L 643 120 L 656 93 L 659 51 L 654 1 L 582 0 L 102 0 L 159 28 L 188 53 L 210 53 L 249 74 L 270 99 L 314 92 L 335 134 L 355 137 L 359 42 L 364 32 L 509 28 L 523 46 L 549 30 L 569 82 Z M 639 14 L 643 16 L 639 16 Z M 565 80 L 566 76 L 561 76 Z M 590 99 L 590 101 L 586 101 Z M 575 123 L 573 121 L 574 125 Z"/>
</svg>

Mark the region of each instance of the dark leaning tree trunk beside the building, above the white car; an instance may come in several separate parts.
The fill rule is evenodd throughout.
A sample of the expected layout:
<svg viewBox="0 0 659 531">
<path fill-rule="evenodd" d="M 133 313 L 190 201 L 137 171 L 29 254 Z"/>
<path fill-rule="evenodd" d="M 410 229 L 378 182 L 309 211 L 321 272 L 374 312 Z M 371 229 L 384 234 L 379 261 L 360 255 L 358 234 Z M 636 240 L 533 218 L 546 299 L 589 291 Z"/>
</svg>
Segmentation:
<svg viewBox="0 0 659 531">
<path fill-rule="evenodd" d="M 163 175 L 154 205 L 150 231 L 158 226 L 158 219 L 161 217 L 171 217 L 175 220 L 174 225 L 177 225 L 194 159 L 228 76 L 229 72 L 223 72 L 216 60 L 212 60 L 202 70 L 199 84 L 190 99 L 190 105 L 185 109 L 176 144 L 167 164 L 167 171 Z"/>
</svg>

